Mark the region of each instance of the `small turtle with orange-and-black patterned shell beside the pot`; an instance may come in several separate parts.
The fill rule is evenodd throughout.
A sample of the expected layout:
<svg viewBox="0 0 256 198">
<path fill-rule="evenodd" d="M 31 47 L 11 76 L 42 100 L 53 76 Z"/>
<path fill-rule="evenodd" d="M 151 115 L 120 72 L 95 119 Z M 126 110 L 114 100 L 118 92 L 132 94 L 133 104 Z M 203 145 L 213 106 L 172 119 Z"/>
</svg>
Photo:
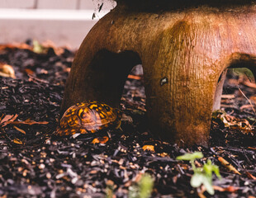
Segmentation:
<svg viewBox="0 0 256 198">
<path fill-rule="evenodd" d="M 56 135 L 88 134 L 107 128 L 118 129 L 121 111 L 97 101 L 87 101 L 70 106 L 59 121 Z"/>
</svg>

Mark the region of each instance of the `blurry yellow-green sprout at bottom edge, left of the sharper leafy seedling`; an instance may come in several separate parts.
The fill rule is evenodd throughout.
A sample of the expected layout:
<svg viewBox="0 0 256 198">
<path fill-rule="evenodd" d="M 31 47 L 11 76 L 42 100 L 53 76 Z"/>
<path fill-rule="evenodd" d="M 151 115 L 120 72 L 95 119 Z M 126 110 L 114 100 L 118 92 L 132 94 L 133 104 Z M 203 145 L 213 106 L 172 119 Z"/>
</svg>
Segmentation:
<svg viewBox="0 0 256 198">
<path fill-rule="evenodd" d="M 144 174 L 138 183 L 129 187 L 129 198 L 149 198 L 153 190 L 154 180 L 149 174 Z"/>
</svg>

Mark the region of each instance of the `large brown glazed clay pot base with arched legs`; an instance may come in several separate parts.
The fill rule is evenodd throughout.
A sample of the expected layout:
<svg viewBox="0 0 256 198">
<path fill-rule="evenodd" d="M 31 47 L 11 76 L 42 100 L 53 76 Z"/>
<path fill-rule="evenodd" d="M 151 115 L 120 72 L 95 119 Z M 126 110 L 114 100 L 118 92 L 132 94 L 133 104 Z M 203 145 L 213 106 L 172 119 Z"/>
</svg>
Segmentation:
<svg viewBox="0 0 256 198">
<path fill-rule="evenodd" d="M 225 69 L 255 73 L 255 57 L 254 1 L 117 1 L 83 40 L 61 113 L 87 100 L 119 106 L 127 75 L 142 64 L 155 137 L 207 145 Z"/>
</svg>

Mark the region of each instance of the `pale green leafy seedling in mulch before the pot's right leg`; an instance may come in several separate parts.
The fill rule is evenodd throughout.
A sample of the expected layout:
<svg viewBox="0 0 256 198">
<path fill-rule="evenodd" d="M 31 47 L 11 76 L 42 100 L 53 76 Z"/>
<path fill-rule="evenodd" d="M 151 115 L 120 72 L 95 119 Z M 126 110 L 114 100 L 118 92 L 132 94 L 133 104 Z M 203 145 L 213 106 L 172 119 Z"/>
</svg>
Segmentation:
<svg viewBox="0 0 256 198">
<path fill-rule="evenodd" d="M 203 185 L 206 187 L 206 191 L 210 195 L 214 195 L 214 189 L 212 187 L 212 172 L 215 172 L 216 176 L 221 178 L 219 167 L 213 165 L 210 159 L 207 160 L 207 163 L 205 163 L 203 167 L 196 167 L 195 160 L 197 158 L 203 158 L 203 154 L 201 152 L 185 153 L 184 155 L 177 157 L 178 160 L 187 160 L 192 165 L 194 174 L 190 181 L 191 186 L 199 187 Z"/>
</svg>

